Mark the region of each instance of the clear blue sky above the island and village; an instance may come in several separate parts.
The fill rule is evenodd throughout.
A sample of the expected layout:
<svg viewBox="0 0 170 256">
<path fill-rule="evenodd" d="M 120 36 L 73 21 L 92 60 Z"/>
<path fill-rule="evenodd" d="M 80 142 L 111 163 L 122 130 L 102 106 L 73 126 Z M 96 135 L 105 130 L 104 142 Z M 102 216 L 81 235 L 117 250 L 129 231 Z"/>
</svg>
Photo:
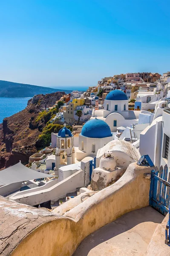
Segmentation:
<svg viewBox="0 0 170 256">
<path fill-rule="evenodd" d="M 170 71 L 170 1 L 0 1 L 0 80 L 49 87 Z"/>
</svg>

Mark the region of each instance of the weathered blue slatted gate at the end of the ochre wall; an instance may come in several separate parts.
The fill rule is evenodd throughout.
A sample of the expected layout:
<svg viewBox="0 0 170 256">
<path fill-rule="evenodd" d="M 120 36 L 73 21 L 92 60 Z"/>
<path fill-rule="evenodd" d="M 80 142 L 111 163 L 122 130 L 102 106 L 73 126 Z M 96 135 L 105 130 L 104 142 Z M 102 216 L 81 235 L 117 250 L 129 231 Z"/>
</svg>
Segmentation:
<svg viewBox="0 0 170 256">
<path fill-rule="evenodd" d="M 151 171 L 150 181 L 150 206 L 164 216 L 169 212 L 170 204 L 170 173 L 167 181 L 167 165 L 160 170 Z"/>
</svg>

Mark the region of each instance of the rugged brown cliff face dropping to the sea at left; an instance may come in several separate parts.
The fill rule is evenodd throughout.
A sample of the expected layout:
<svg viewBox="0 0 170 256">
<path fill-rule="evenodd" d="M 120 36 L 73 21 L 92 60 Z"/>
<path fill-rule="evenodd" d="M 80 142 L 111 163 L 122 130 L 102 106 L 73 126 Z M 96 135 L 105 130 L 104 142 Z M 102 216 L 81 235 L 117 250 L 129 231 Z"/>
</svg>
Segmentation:
<svg viewBox="0 0 170 256">
<path fill-rule="evenodd" d="M 28 101 L 27 107 L 0 124 L 0 170 L 18 163 L 28 163 L 29 157 L 37 152 L 35 146 L 44 122 L 35 119 L 44 108 L 52 107 L 63 96 L 63 92 L 40 94 Z"/>
</svg>

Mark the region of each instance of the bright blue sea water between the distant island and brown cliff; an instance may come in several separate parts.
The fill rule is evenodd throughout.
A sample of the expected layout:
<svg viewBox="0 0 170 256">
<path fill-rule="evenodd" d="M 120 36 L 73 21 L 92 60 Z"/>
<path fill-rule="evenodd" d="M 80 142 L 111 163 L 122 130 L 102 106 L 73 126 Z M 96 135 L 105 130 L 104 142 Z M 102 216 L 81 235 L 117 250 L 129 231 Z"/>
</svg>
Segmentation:
<svg viewBox="0 0 170 256">
<path fill-rule="evenodd" d="M 12 116 L 27 106 L 28 98 L 7 98 L 0 97 L 0 123 L 5 117 Z"/>
</svg>

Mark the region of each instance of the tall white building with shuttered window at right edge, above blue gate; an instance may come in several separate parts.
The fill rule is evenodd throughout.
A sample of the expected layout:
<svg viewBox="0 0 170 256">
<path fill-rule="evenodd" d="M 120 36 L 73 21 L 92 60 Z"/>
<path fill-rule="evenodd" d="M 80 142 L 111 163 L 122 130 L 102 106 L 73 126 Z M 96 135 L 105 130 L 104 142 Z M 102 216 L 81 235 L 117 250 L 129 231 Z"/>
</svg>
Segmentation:
<svg viewBox="0 0 170 256">
<path fill-rule="evenodd" d="M 160 106 L 156 108 L 153 122 L 141 132 L 139 151 L 141 155 L 148 154 L 158 168 L 167 164 L 169 170 L 170 108 L 164 108 L 168 102 L 163 104 L 165 102 L 160 102 Z"/>
</svg>

